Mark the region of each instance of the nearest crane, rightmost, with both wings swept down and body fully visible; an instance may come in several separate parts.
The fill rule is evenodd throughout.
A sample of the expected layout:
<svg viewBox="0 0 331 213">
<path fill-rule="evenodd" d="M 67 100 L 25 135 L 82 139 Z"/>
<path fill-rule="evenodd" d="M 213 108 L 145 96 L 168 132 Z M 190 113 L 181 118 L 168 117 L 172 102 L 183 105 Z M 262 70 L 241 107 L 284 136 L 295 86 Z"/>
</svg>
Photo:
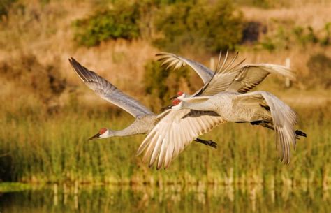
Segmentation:
<svg viewBox="0 0 331 213">
<path fill-rule="evenodd" d="M 284 163 L 290 162 L 290 144 L 295 147 L 295 139 L 298 136 L 307 136 L 302 131 L 295 131 L 296 113 L 267 91 L 253 91 L 247 94 L 224 91 L 214 96 L 190 98 L 190 101 L 172 101 L 172 110 L 184 110 L 188 113 L 182 117 L 172 117 L 176 121 L 179 120 L 179 123 L 172 122 L 171 119 L 162 119 L 140 145 L 140 153 L 147 148 L 144 158 L 145 161 L 149 159 L 149 166 L 157 159 L 157 168 L 161 168 L 163 164 L 167 168 L 172 159 L 182 152 L 191 140 L 200 135 L 200 132 L 214 127 L 208 120 L 210 117 L 219 117 L 219 123 L 255 122 L 268 125 L 268 128 L 274 129 L 277 133 L 277 147 Z M 210 115 L 196 119 L 194 114 L 202 111 L 208 111 Z M 169 125 L 169 122 L 172 124 Z"/>
</svg>

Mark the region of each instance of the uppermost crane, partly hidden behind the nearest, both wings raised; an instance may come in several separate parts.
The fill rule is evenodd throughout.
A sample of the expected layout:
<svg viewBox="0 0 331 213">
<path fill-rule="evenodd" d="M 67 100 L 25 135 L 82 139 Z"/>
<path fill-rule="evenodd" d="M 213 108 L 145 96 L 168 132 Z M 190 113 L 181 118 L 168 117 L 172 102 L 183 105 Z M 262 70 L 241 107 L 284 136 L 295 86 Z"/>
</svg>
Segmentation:
<svg viewBox="0 0 331 213">
<path fill-rule="evenodd" d="M 177 68 L 188 65 L 203 80 L 204 86 L 192 95 L 179 91 L 176 95 L 179 99 L 194 96 L 211 96 L 221 91 L 245 93 L 259 85 L 260 82 L 263 82 L 270 73 L 284 75 L 284 77 L 290 78 L 290 80 L 295 80 L 295 74 L 286 66 L 277 64 L 245 64 L 240 66 L 244 60 L 234 65 L 238 52 L 228 62 L 227 51 L 222 64 L 222 54 L 220 53 L 215 72 L 203 66 L 203 64 L 176 54 L 161 52 L 156 54 L 156 56 L 160 57 L 158 61 L 162 61 L 161 66 L 165 66 L 166 69 L 173 67 L 176 70 Z"/>
</svg>

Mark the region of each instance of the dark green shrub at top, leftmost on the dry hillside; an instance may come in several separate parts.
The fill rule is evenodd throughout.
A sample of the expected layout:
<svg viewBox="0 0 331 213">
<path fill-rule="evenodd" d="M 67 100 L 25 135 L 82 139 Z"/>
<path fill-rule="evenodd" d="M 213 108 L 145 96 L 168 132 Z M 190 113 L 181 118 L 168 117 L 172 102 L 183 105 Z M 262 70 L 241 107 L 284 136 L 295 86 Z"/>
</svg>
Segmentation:
<svg viewBox="0 0 331 213">
<path fill-rule="evenodd" d="M 74 39 L 80 45 L 94 46 L 108 39 L 131 40 L 140 36 L 139 8 L 134 3 L 97 11 L 94 15 L 74 22 Z"/>
</svg>

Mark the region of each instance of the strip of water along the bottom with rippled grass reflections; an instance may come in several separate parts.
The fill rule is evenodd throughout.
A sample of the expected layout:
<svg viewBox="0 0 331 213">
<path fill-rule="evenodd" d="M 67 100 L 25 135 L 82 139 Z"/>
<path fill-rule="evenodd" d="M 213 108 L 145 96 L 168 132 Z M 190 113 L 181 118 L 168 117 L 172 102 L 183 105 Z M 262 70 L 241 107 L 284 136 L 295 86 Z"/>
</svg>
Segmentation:
<svg viewBox="0 0 331 213">
<path fill-rule="evenodd" d="M 3 193 L 0 212 L 331 212 L 331 191 L 314 186 L 80 186 L 76 195 L 63 189 Z"/>
</svg>

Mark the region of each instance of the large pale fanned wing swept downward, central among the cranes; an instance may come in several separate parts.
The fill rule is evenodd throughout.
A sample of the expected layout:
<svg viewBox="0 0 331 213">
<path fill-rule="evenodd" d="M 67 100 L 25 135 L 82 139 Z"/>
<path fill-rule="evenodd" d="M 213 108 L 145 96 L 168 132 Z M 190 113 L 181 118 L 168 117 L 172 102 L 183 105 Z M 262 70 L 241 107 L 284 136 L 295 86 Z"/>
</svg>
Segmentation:
<svg viewBox="0 0 331 213">
<path fill-rule="evenodd" d="M 170 110 L 147 135 L 137 154 L 146 149 L 143 160 L 149 161 L 149 166 L 157 160 L 157 169 L 163 165 L 168 168 L 187 145 L 222 122 L 216 112 Z"/>
</svg>

